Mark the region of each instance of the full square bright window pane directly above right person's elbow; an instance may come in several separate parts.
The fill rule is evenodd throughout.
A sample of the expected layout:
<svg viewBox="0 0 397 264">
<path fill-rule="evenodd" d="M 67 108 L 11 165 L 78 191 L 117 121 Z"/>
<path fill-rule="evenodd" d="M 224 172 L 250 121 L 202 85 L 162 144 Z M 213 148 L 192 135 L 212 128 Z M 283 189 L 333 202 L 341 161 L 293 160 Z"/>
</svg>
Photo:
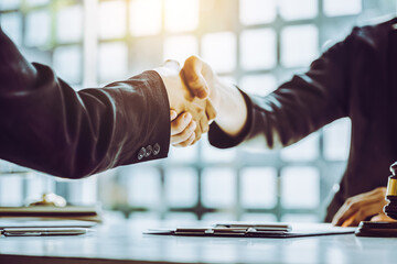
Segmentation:
<svg viewBox="0 0 397 264">
<path fill-rule="evenodd" d="M 308 67 L 318 50 L 319 32 L 314 25 L 293 25 L 281 31 L 281 63 L 286 67 Z"/>
</svg>

